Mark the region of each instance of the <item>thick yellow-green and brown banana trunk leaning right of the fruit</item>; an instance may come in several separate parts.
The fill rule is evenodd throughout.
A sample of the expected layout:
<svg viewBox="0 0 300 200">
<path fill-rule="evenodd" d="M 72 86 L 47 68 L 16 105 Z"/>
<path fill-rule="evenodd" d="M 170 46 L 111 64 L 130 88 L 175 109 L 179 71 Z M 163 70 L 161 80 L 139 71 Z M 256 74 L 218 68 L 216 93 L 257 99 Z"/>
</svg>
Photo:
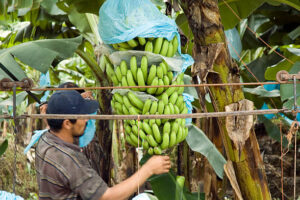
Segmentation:
<svg viewBox="0 0 300 200">
<path fill-rule="evenodd" d="M 198 78 L 201 83 L 239 82 L 239 68 L 232 62 L 227 50 L 218 1 L 183 0 L 181 4 L 194 34 L 193 80 L 196 83 Z M 215 111 L 225 111 L 225 106 L 228 105 L 231 106 L 229 109 L 233 110 L 235 109 L 233 105 L 236 107 L 244 105 L 242 101 L 244 94 L 240 86 L 210 87 L 207 91 L 210 93 Z M 198 92 L 201 99 L 204 90 Z M 246 106 L 247 109 L 250 108 Z M 242 196 L 244 199 L 251 200 L 271 199 L 259 146 L 253 131 L 253 120 L 248 122 L 246 117 L 235 119 L 236 121 L 229 119 L 230 128 L 224 118 L 218 118 L 218 126 L 227 158 L 233 163 Z M 234 128 L 239 129 L 238 125 L 242 124 L 247 124 L 250 129 L 238 133 L 233 131 Z M 236 141 L 235 138 L 241 140 Z"/>
</svg>

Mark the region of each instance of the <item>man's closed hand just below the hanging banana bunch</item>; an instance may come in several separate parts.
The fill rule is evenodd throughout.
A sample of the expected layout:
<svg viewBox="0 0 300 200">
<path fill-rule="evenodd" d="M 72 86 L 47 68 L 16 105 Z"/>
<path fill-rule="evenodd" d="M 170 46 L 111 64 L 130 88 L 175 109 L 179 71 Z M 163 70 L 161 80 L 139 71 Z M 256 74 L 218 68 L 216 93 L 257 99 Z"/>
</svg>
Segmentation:
<svg viewBox="0 0 300 200">
<path fill-rule="evenodd" d="M 171 162 L 169 156 L 152 156 L 146 163 L 145 167 L 151 171 L 151 174 L 163 174 L 169 172 Z"/>
</svg>

